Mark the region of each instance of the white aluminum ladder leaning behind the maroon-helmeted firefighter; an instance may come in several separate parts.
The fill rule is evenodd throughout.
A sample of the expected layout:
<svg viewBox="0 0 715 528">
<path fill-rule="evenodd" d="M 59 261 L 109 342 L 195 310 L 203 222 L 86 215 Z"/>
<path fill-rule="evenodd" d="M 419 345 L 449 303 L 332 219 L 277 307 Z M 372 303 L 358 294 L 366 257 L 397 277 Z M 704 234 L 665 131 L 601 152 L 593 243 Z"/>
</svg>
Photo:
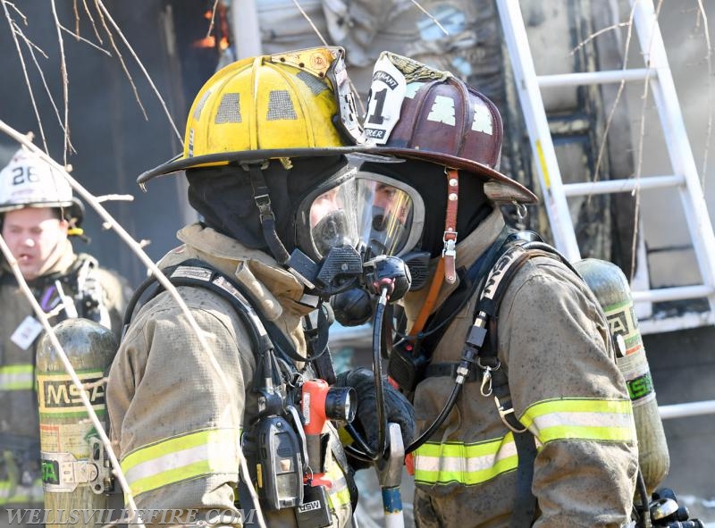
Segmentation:
<svg viewBox="0 0 715 528">
<path fill-rule="evenodd" d="M 537 76 L 518 0 L 497 0 L 501 27 L 514 70 L 519 102 L 539 175 L 544 205 L 551 224 L 554 245 L 571 261 L 581 258 L 574 225 L 568 211 L 568 197 L 631 192 L 636 188 L 675 188 L 683 206 L 702 284 L 650 289 L 647 283 L 637 284 L 634 281 L 633 298 L 636 306 L 663 301 L 707 298 L 709 309 L 706 312 L 664 318 L 659 318 L 656 314 L 652 319 L 643 319 L 639 314 L 640 330 L 642 333 L 656 333 L 713 324 L 715 323 L 715 234 L 698 178 L 693 151 L 687 138 L 652 0 L 630 0 L 630 4 L 633 9 L 633 23 L 644 56 L 644 68 Z M 641 176 L 638 179 L 563 183 L 540 88 L 629 80 L 644 80 L 650 85 L 673 173 L 664 176 Z M 643 249 L 644 247 L 641 248 L 638 256 L 641 259 L 645 257 Z"/>
</svg>

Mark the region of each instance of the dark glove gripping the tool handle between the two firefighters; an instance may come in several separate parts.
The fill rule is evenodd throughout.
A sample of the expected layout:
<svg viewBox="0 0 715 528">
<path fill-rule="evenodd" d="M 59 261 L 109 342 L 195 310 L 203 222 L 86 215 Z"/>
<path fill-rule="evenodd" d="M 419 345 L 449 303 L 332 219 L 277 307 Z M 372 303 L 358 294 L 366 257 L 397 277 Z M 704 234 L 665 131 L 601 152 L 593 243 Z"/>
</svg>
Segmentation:
<svg viewBox="0 0 715 528">
<path fill-rule="evenodd" d="M 360 367 L 338 374 L 335 385 L 352 387 L 357 392 L 357 411 L 353 424 L 363 434 L 371 449 L 377 448 L 377 397 L 374 388 L 374 374 Z M 385 415 L 387 421 L 400 424 L 402 443 L 408 447 L 415 436 L 415 409 L 400 390 L 385 381 L 383 383 Z M 387 434 L 387 432 L 385 432 Z"/>
</svg>

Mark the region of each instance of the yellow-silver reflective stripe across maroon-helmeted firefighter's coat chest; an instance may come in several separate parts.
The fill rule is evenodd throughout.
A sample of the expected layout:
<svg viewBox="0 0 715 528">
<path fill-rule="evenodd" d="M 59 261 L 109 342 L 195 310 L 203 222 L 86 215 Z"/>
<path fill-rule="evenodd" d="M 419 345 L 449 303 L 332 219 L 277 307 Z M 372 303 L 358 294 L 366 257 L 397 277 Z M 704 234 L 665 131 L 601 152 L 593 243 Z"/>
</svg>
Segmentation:
<svg viewBox="0 0 715 528">
<path fill-rule="evenodd" d="M 517 446 L 511 432 L 477 444 L 427 442 L 415 451 L 415 481 L 421 483 L 486 482 L 517 468 Z"/>
</svg>

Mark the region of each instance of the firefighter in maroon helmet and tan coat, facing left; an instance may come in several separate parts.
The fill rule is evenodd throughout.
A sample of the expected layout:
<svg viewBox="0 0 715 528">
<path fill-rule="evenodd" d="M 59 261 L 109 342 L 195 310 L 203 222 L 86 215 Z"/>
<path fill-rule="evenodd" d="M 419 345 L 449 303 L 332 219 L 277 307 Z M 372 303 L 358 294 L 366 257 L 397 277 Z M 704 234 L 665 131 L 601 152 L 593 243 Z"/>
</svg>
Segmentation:
<svg viewBox="0 0 715 528">
<path fill-rule="evenodd" d="M 496 107 L 447 72 L 383 54 L 365 126 L 378 143 L 375 152 L 406 161 L 363 163 L 357 178 L 405 195 L 411 217 L 424 215 L 424 222 L 401 238 L 417 239 L 433 258 L 430 287 L 403 299 L 409 357 L 416 365 L 423 360 L 415 386 L 403 388 L 414 394 L 420 433 L 454 388 L 475 321 L 471 286 L 509 235 L 499 204 L 535 197 L 496 170 L 502 135 Z M 475 362 L 446 420 L 413 453 L 416 525 L 627 524 L 638 468 L 635 426 L 593 293 L 558 259 L 536 256 L 512 276 L 496 315 L 484 343 L 492 355 Z M 392 368 L 391 374 L 400 377 Z M 510 398 L 517 421 L 508 405 L 500 414 L 495 395 L 501 404 Z M 522 451 L 517 443 L 524 439 Z M 534 457 L 533 475 L 522 453 Z"/>
</svg>

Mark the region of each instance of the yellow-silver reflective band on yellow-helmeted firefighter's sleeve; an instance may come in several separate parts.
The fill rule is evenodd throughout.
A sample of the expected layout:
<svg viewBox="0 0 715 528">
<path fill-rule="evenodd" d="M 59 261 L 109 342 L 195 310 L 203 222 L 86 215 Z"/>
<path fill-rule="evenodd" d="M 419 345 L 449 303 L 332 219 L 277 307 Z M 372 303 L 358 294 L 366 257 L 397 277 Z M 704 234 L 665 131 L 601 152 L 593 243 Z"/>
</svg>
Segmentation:
<svg viewBox="0 0 715 528">
<path fill-rule="evenodd" d="M 205 474 L 238 474 L 240 431 L 207 429 L 144 446 L 122 459 L 135 495 Z"/>
</svg>

